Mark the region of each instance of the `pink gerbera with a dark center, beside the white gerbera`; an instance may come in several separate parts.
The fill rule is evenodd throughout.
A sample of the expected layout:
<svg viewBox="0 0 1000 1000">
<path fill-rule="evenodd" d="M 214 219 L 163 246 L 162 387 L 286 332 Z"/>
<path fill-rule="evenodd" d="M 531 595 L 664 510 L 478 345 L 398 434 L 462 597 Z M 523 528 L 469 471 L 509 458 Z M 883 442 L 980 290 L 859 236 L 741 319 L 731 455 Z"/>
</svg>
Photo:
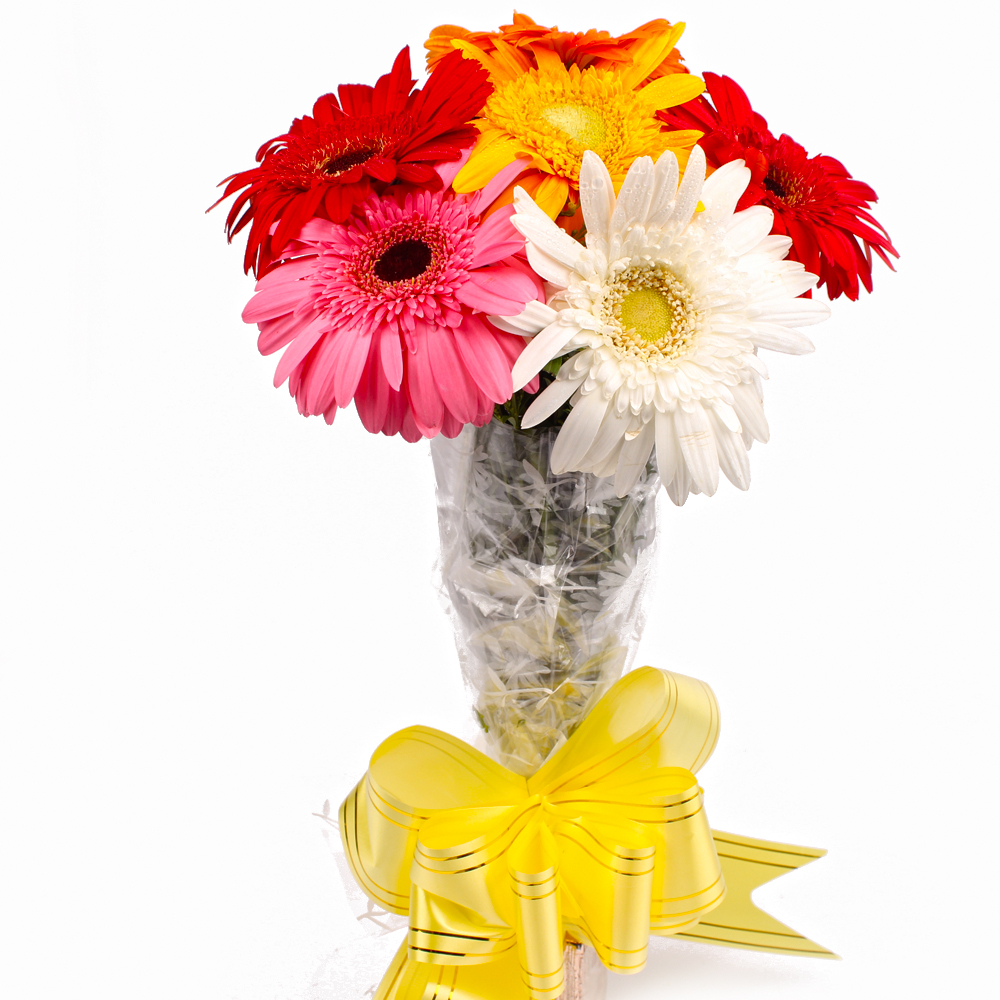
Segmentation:
<svg viewBox="0 0 1000 1000">
<path fill-rule="evenodd" d="M 439 168 L 446 184 L 457 167 Z M 520 168 L 472 197 L 373 195 L 344 224 L 305 225 L 243 310 L 262 354 L 286 348 L 274 384 L 288 380 L 300 413 L 333 423 L 353 399 L 369 431 L 415 441 L 482 425 L 510 398 L 524 341 L 484 314 L 520 312 L 542 285 L 515 256 L 513 209 L 481 213 Z"/>
</svg>

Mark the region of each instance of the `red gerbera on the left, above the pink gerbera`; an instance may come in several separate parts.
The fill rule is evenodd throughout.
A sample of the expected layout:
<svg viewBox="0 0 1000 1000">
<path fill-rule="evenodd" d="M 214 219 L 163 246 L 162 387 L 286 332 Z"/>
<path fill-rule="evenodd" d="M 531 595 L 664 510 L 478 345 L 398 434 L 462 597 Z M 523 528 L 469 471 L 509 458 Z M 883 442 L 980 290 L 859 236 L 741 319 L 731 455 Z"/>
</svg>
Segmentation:
<svg viewBox="0 0 1000 1000">
<path fill-rule="evenodd" d="M 343 84 L 336 97 L 325 94 L 312 117 L 296 118 L 288 132 L 257 150 L 259 166 L 222 181 L 226 190 L 215 205 L 240 192 L 226 218 L 230 241 L 252 220 L 244 270 L 263 274 L 313 217 L 343 222 L 355 205 L 389 185 L 441 187 L 433 164 L 459 159 L 475 142 L 478 133 L 468 122 L 493 86 L 489 74 L 459 52 L 441 60 L 423 89 L 414 90 L 415 82 L 407 47 L 374 87 Z"/>
</svg>

